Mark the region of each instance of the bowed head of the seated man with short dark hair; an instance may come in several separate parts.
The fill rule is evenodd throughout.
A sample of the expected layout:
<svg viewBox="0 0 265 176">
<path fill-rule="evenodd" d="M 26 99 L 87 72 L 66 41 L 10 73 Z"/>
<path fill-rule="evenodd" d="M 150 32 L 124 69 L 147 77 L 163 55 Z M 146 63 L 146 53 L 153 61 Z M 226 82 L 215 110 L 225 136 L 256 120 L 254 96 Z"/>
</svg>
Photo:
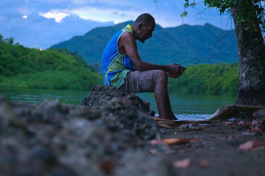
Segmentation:
<svg viewBox="0 0 265 176">
<path fill-rule="evenodd" d="M 144 43 L 145 40 L 152 37 L 152 32 L 156 27 L 155 19 L 152 15 L 143 13 L 134 21 L 133 27 L 136 28 L 136 31 L 133 32 L 135 39 Z"/>
</svg>

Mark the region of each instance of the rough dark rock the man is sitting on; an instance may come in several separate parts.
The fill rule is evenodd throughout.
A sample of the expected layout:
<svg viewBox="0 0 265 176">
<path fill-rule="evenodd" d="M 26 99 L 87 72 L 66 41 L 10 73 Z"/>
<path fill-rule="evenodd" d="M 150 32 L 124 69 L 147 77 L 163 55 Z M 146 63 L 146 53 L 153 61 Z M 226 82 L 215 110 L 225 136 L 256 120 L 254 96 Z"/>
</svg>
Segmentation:
<svg viewBox="0 0 265 176">
<path fill-rule="evenodd" d="M 149 114 L 152 117 L 155 116 L 155 111 L 150 111 L 150 102 L 144 101 L 140 97 L 136 96 L 135 93 L 128 94 L 112 86 L 94 86 L 93 88 L 91 88 L 90 94 L 83 99 L 81 105 L 88 106 L 93 109 L 98 109 L 114 98 L 129 99 L 133 103 L 133 105 L 138 107 L 144 113 Z"/>
</svg>

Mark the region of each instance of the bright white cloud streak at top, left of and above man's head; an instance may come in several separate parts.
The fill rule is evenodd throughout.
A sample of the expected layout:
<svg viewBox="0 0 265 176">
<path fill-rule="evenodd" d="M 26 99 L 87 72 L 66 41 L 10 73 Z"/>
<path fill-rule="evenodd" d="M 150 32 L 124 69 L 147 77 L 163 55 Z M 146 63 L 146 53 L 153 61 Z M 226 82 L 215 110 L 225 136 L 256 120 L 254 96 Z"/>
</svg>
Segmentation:
<svg viewBox="0 0 265 176">
<path fill-rule="evenodd" d="M 45 1 L 51 3 L 53 2 L 50 0 Z M 63 4 L 61 3 L 63 0 L 58 0 L 56 2 L 57 4 Z M 54 18 L 57 22 L 61 22 L 63 18 L 71 14 L 77 15 L 85 20 L 94 20 L 99 22 L 114 21 L 114 23 L 117 24 L 128 20 L 135 20 L 141 13 L 146 12 L 145 10 L 149 8 L 149 4 L 153 5 L 152 2 L 142 2 L 142 6 L 133 6 L 133 3 L 135 2 L 128 1 L 126 3 L 121 3 L 121 1 L 117 0 L 94 0 L 87 2 L 84 0 L 72 0 L 71 6 L 53 6 L 52 9 L 45 12 L 43 11 L 39 14 L 43 17 Z M 155 9 L 153 12 L 155 12 Z"/>
</svg>

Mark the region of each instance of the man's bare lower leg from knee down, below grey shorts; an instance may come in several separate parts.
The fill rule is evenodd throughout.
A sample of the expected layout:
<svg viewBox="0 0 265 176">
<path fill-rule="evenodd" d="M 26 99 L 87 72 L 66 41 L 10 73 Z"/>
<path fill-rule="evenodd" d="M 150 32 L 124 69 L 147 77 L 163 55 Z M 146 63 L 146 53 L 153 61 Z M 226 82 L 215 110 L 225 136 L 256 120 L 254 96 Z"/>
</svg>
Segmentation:
<svg viewBox="0 0 265 176">
<path fill-rule="evenodd" d="M 155 92 L 159 118 L 168 119 L 168 120 L 177 120 L 176 116 L 172 111 L 169 101 L 168 75 L 166 72 L 161 71 L 154 92 Z"/>
</svg>

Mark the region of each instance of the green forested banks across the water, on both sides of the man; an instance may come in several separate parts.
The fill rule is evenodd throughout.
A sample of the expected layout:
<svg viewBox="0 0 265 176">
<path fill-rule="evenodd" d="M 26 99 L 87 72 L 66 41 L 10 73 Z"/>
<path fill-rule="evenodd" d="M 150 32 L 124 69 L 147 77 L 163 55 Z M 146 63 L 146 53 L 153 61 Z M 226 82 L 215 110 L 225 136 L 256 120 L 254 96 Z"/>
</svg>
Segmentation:
<svg viewBox="0 0 265 176">
<path fill-rule="evenodd" d="M 237 80 L 237 63 L 189 65 L 181 77 L 169 79 L 168 91 L 234 96 Z M 0 42 L 0 87 L 90 90 L 94 85 L 103 85 L 102 74 L 77 52 L 66 48 L 40 51 Z"/>
</svg>

